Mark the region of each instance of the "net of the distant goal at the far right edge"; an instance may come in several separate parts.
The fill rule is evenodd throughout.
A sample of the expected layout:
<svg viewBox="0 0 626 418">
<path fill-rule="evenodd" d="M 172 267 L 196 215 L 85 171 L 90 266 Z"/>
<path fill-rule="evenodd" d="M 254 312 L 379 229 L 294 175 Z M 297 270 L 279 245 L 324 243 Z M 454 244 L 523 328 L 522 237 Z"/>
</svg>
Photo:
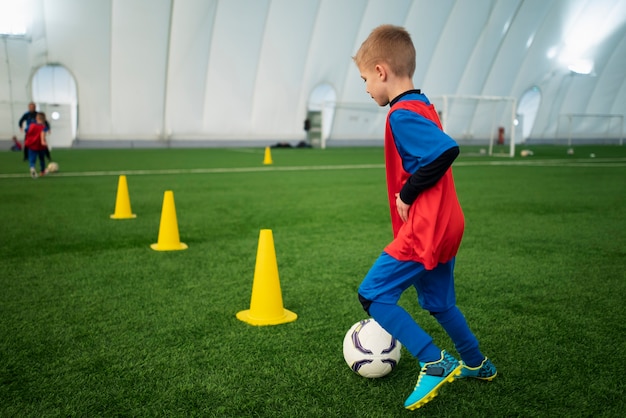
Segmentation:
<svg viewBox="0 0 626 418">
<path fill-rule="evenodd" d="M 559 115 L 555 145 L 623 145 L 624 115 Z"/>
</svg>

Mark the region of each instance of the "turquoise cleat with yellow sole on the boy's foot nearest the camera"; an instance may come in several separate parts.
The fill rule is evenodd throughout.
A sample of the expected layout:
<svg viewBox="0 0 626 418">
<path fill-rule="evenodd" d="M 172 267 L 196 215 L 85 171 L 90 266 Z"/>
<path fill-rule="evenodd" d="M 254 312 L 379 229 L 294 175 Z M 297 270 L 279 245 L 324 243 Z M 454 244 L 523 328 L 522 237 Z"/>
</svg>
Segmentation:
<svg viewBox="0 0 626 418">
<path fill-rule="evenodd" d="M 444 383 L 454 381 L 461 373 L 461 363 L 446 350 L 441 351 L 441 359 L 430 363 L 421 363 L 420 375 L 413 393 L 404 401 L 406 409 L 417 409 L 431 401 Z"/>
</svg>

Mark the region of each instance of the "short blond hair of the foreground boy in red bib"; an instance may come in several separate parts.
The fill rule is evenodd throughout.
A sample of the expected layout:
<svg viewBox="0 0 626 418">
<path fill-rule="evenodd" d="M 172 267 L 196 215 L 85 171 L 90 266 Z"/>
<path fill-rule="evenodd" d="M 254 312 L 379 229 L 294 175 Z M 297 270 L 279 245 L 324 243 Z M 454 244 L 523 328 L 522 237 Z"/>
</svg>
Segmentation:
<svg viewBox="0 0 626 418">
<path fill-rule="evenodd" d="M 413 77 L 415 46 L 406 29 L 394 25 L 375 28 L 352 57 L 359 68 L 385 63 L 397 76 Z"/>
</svg>

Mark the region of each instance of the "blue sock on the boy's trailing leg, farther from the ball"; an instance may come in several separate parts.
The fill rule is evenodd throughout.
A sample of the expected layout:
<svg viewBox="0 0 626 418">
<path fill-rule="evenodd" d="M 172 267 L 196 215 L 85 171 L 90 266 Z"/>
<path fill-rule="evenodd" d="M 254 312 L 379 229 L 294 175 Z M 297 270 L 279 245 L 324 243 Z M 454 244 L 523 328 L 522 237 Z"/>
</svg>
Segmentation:
<svg viewBox="0 0 626 418">
<path fill-rule="evenodd" d="M 431 314 L 448 333 L 463 362 L 470 367 L 479 366 L 485 356 L 478 349 L 478 340 L 469 329 L 459 308 L 454 306 L 447 311 Z"/>
</svg>

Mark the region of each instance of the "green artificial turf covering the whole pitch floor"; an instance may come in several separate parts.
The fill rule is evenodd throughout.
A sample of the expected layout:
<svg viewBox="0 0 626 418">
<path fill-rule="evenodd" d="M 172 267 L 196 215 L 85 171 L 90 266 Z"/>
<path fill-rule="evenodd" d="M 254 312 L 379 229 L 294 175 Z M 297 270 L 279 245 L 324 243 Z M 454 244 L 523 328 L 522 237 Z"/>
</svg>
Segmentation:
<svg viewBox="0 0 626 418">
<path fill-rule="evenodd" d="M 498 377 L 415 412 L 406 350 L 373 380 L 342 356 L 391 239 L 381 148 L 272 149 L 272 165 L 263 148 L 60 149 L 37 180 L 0 153 L 0 416 L 623 416 L 626 149 L 565 150 L 462 148 L 457 299 Z M 120 174 L 135 219 L 110 218 Z M 183 251 L 150 248 L 167 190 Z M 235 317 L 261 229 L 295 322 Z M 456 354 L 414 293 L 401 304 Z"/>
</svg>

